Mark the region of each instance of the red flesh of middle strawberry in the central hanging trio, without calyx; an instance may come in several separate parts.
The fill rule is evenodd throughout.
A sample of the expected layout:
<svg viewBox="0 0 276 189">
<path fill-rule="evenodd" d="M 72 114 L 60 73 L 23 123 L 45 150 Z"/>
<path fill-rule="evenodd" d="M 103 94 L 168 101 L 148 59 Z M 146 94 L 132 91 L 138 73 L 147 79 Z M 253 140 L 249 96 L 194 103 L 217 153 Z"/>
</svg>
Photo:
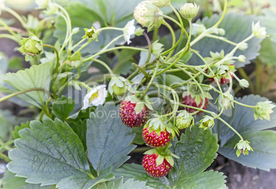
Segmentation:
<svg viewBox="0 0 276 189">
<path fill-rule="evenodd" d="M 152 131 L 149 134 L 148 127 L 146 127 L 143 129 L 143 140 L 145 140 L 150 147 L 165 147 L 165 145 L 170 142 L 170 134 L 167 130 L 161 131 L 159 136 L 156 131 Z"/>
</svg>

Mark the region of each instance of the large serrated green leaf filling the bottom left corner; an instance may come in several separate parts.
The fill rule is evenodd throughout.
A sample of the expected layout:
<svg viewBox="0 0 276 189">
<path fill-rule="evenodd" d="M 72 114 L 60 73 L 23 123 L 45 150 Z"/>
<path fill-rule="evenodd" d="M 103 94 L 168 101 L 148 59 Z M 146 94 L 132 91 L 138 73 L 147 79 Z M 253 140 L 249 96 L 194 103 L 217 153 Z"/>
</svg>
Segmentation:
<svg viewBox="0 0 276 189">
<path fill-rule="evenodd" d="M 27 182 L 45 186 L 89 173 L 84 147 L 67 123 L 45 118 L 43 123 L 32 121 L 30 129 L 22 129 L 19 134 L 7 167 Z"/>
</svg>

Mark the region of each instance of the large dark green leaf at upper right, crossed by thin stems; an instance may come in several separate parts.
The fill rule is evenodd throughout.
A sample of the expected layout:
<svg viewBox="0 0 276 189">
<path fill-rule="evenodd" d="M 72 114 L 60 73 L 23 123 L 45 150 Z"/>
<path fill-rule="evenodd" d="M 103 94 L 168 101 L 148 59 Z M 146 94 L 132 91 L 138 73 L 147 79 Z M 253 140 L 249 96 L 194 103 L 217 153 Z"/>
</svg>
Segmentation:
<svg viewBox="0 0 276 189">
<path fill-rule="evenodd" d="M 215 14 L 214 16 L 211 16 L 211 18 L 205 17 L 200 21 L 200 23 L 203 23 L 206 28 L 212 27 L 218 21 L 220 16 L 221 15 Z M 253 21 L 254 16 L 228 13 L 225 14 L 219 27 L 225 29 L 225 38 L 238 43 L 252 34 L 251 24 Z M 260 42 L 262 42 L 262 39 L 253 38 L 247 42 L 249 47 L 245 51 L 236 51 L 234 55 L 245 55 L 246 62 L 235 62 L 235 66 L 238 68 L 243 67 L 245 64 L 249 64 L 250 60 L 255 59 L 257 55 L 259 55 L 258 51 L 260 50 Z M 206 47 L 206 44 L 208 44 L 208 48 Z M 203 38 L 199 42 L 196 42 L 192 48 L 196 49 L 196 51 L 200 51 L 200 55 L 205 58 L 210 57 L 210 51 L 220 52 L 223 49 L 225 54 L 227 54 L 234 49 L 235 46 L 214 38 Z M 202 60 L 200 60 L 200 58 L 195 54 L 192 55 L 189 62 L 193 65 L 203 64 Z"/>
</svg>

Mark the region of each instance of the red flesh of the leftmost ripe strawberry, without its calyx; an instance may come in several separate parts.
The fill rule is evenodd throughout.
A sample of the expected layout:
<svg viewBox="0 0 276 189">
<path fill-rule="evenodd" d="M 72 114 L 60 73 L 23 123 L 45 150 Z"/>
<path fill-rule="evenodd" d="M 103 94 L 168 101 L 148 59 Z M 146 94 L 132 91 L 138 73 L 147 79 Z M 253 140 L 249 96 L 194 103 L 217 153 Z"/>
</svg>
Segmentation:
<svg viewBox="0 0 276 189">
<path fill-rule="evenodd" d="M 119 115 L 123 123 L 128 127 L 139 127 L 143 125 L 148 119 L 148 114 L 150 113 L 146 105 L 143 105 L 143 109 L 139 114 L 135 113 L 135 106 L 137 103 L 130 103 L 130 101 L 123 100 L 119 107 Z"/>
</svg>

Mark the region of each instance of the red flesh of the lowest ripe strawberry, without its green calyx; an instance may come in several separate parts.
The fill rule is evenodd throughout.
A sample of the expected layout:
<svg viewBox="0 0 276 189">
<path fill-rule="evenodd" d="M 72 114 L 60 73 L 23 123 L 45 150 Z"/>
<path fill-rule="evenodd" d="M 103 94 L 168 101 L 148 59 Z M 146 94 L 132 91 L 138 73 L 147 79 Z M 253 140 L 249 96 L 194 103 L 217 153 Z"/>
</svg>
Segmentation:
<svg viewBox="0 0 276 189">
<path fill-rule="evenodd" d="M 143 156 L 143 168 L 148 175 L 152 177 L 165 177 L 165 175 L 170 172 L 172 166 L 167 162 L 167 160 L 165 160 L 165 158 L 163 163 L 157 166 L 157 157 L 158 155 L 155 153 Z"/>
</svg>

